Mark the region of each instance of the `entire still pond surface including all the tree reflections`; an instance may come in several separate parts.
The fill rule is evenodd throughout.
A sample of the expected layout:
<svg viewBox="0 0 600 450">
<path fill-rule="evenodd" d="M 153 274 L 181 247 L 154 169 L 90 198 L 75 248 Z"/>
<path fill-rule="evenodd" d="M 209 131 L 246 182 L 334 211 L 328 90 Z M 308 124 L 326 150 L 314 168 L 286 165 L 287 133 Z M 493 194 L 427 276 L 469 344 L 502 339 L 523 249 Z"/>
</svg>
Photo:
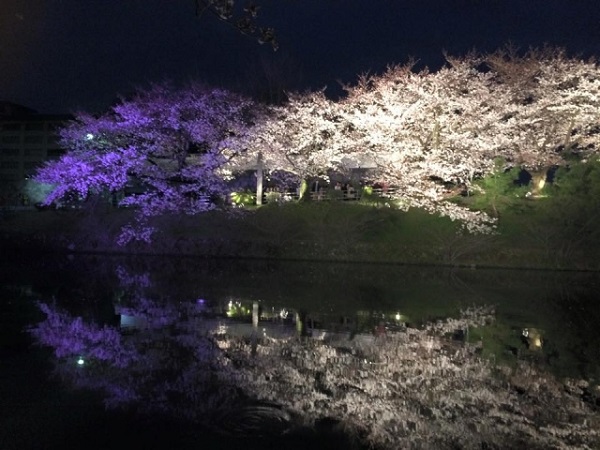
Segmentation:
<svg viewBox="0 0 600 450">
<path fill-rule="evenodd" d="M 18 255 L 0 282 L 1 448 L 599 442 L 595 273 Z"/>
</svg>

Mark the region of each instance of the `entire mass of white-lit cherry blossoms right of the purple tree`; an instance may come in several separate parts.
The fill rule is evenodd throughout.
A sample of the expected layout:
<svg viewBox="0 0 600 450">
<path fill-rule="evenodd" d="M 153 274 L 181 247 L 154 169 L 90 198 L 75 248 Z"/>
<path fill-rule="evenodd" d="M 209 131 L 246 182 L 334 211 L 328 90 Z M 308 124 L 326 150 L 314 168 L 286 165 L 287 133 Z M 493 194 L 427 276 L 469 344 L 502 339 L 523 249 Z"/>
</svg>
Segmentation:
<svg viewBox="0 0 600 450">
<path fill-rule="evenodd" d="M 595 62 L 553 49 L 447 61 L 436 72 L 408 64 L 364 75 L 339 102 L 296 96 L 272 110 L 254 147 L 267 165 L 302 176 L 340 168 L 345 158 L 374 161 L 372 179 L 397 186 L 404 205 L 465 220 L 473 230 L 493 221 L 446 202 L 448 186 L 470 189 L 498 158 L 545 174 L 574 151 L 598 150 Z"/>
</svg>

